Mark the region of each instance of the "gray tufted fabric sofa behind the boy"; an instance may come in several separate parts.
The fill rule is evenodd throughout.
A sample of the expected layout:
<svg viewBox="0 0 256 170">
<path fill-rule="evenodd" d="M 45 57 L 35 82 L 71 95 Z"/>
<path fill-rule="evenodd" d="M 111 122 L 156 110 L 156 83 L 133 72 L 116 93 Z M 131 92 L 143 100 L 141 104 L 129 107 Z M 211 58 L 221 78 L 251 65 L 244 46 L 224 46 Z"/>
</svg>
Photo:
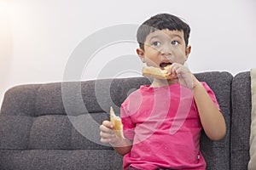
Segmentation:
<svg viewBox="0 0 256 170">
<path fill-rule="evenodd" d="M 195 74 L 215 92 L 227 124 L 220 141 L 201 135 L 207 169 L 243 170 L 249 161 L 250 72 Z M 122 169 L 122 157 L 100 143 L 99 125 L 116 113 L 145 77 L 26 84 L 10 88 L 0 114 L 0 169 Z"/>
</svg>

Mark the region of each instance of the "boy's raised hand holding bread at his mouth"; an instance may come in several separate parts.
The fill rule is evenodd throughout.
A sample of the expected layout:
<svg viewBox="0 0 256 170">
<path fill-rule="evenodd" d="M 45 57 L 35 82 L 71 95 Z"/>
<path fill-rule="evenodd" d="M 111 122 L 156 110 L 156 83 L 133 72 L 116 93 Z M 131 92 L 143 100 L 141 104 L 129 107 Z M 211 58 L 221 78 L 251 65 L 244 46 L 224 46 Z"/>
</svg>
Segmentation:
<svg viewBox="0 0 256 170">
<path fill-rule="evenodd" d="M 181 64 L 178 63 L 173 63 L 168 71 L 168 74 L 172 76 L 177 76 L 178 77 L 178 82 L 185 88 L 192 89 L 195 86 L 194 83 L 194 75 L 189 71 L 189 69 Z"/>
</svg>

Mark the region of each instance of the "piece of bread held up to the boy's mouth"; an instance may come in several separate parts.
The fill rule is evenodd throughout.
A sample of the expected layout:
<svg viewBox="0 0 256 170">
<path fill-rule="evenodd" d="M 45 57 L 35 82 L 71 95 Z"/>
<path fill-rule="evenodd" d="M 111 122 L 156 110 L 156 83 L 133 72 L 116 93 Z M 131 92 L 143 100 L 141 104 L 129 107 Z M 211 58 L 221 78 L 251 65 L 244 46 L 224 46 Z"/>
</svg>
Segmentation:
<svg viewBox="0 0 256 170">
<path fill-rule="evenodd" d="M 154 66 L 143 67 L 143 76 L 166 80 L 177 78 L 167 73 L 168 66 L 170 65 L 167 65 L 164 70 Z"/>
</svg>

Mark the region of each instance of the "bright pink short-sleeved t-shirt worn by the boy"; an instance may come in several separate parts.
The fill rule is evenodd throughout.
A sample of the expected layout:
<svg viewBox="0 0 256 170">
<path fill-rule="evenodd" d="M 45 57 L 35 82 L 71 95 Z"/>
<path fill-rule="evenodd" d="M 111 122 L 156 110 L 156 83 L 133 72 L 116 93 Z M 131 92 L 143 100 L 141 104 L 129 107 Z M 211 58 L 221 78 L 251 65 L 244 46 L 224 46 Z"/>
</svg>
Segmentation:
<svg viewBox="0 0 256 170">
<path fill-rule="evenodd" d="M 201 82 L 215 105 L 206 82 Z M 152 88 L 142 86 L 121 105 L 126 139 L 133 146 L 123 167 L 151 170 L 157 167 L 205 169 L 200 152 L 201 122 L 191 90 L 179 83 Z"/>
</svg>

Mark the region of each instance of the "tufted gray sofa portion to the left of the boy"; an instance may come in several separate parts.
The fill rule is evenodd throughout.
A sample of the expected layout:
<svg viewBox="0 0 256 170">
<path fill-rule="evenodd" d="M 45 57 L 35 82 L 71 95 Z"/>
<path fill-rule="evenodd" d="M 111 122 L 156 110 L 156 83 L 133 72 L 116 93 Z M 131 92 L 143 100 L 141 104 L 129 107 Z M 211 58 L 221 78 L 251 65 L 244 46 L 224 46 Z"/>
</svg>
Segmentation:
<svg viewBox="0 0 256 170">
<path fill-rule="evenodd" d="M 0 114 L 0 169 L 121 169 L 121 156 L 100 143 L 99 125 L 110 105 L 116 110 L 145 83 L 125 78 L 10 88 Z"/>
</svg>

